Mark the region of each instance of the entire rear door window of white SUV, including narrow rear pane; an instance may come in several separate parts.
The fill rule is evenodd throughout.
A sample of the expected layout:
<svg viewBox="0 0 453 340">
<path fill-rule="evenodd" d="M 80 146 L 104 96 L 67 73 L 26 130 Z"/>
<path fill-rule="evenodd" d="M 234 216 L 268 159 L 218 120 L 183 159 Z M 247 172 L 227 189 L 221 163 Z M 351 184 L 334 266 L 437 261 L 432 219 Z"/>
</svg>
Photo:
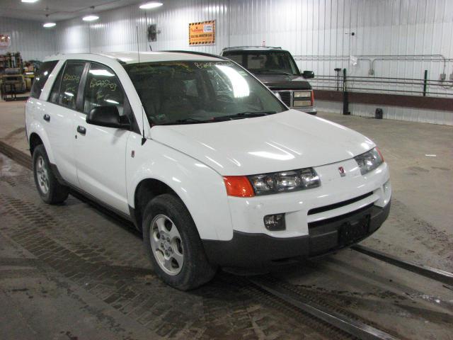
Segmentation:
<svg viewBox="0 0 453 340">
<path fill-rule="evenodd" d="M 50 101 L 67 108 L 75 109 L 79 84 L 84 72 L 85 62 L 67 62 L 59 72 L 50 94 Z"/>
</svg>

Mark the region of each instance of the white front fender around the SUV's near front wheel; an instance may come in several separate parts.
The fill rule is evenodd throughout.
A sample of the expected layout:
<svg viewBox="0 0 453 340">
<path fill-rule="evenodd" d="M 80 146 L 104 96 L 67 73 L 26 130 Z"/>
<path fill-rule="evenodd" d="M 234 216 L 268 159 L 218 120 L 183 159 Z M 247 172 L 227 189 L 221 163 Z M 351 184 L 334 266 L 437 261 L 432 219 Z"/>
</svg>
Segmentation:
<svg viewBox="0 0 453 340">
<path fill-rule="evenodd" d="M 130 210 L 137 210 L 135 197 L 139 183 L 159 181 L 183 201 L 202 239 L 231 239 L 233 225 L 222 176 L 209 166 L 164 145 L 151 141 L 147 145 L 152 151 L 136 153 L 134 160 L 137 163 L 133 162 L 127 170 Z"/>
</svg>

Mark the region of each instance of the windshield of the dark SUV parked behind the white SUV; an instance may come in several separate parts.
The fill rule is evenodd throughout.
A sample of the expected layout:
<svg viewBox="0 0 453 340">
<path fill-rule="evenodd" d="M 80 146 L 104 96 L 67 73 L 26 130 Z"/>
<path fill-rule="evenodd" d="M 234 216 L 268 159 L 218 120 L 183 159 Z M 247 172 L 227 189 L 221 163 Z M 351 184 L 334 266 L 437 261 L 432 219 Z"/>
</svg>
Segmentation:
<svg viewBox="0 0 453 340">
<path fill-rule="evenodd" d="M 241 64 L 255 74 L 299 75 L 299 69 L 287 51 L 226 51 L 224 57 Z"/>
</svg>

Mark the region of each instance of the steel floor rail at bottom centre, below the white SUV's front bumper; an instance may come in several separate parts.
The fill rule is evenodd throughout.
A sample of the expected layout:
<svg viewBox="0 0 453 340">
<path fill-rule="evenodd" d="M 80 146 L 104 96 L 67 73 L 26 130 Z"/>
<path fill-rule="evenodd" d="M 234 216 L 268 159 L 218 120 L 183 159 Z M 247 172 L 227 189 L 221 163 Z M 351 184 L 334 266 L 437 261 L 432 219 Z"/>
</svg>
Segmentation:
<svg viewBox="0 0 453 340">
<path fill-rule="evenodd" d="M 358 339 L 363 340 L 396 340 L 395 336 L 386 333 L 380 329 L 364 324 L 363 322 L 350 319 L 345 317 L 342 314 L 337 312 L 330 312 L 324 307 L 316 305 L 313 302 L 308 302 L 302 297 L 286 290 L 285 288 L 277 287 L 269 283 L 265 283 L 262 280 L 257 280 L 254 278 L 248 278 L 248 280 L 259 288 L 265 290 L 266 292 L 279 297 L 285 302 L 289 303 L 297 309 L 302 310 L 310 314 L 317 319 L 323 320 L 328 324 L 331 324 L 333 327 L 341 329 L 342 331 L 347 332 L 348 334 L 355 336 Z"/>
</svg>

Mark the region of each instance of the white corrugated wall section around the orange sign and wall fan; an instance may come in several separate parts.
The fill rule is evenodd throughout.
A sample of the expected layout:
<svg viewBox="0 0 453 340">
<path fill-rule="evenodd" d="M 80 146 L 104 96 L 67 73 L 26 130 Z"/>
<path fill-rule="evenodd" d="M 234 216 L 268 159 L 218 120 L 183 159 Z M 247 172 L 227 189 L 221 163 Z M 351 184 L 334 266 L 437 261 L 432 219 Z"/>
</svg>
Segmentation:
<svg viewBox="0 0 453 340">
<path fill-rule="evenodd" d="M 188 49 L 218 53 L 228 45 L 228 2 L 222 0 L 166 1 L 153 11 L 142 11 L 137 5 L 101 13 L 96 23 L 81 18 L 59 23 L 57 52 L 136 51 L 137 27 L 139 49 Z M 216 20 L 216 44 L 188 47 L 188 23 Z M 156 42 L 147 41 L 147 25 L 156 23 L 161 31 Z"/>
</svg>

